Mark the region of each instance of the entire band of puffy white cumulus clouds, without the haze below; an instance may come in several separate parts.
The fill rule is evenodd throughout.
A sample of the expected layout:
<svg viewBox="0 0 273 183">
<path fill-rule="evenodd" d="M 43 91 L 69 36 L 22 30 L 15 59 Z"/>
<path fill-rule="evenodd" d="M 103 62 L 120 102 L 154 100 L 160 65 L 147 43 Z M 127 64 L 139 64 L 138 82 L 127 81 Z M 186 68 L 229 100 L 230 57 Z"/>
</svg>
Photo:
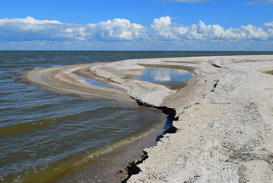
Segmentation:
<svg viewBox="0 0 273 183">
<path fill-rule="evenodd" d="M 131 23 L 127 19 L 115 18 L 97 24 L 64 24 L 57 20 L 36 20 L 32 17 L 0 19 L 0 41 L 161 41 L 199 40 L 240 41 L 272 40 L 273 22 L 264 27 L 251 24 L 238 28 L 224 28 L 220 25 L 198 24 L 184 26 L 172 22 L 169 16 L 155 18 L 150 26 Z M 186 43 L 186 42 L 185 42 Z M 176 43 L 179 45 L 178 43 Z"/>
</svg>

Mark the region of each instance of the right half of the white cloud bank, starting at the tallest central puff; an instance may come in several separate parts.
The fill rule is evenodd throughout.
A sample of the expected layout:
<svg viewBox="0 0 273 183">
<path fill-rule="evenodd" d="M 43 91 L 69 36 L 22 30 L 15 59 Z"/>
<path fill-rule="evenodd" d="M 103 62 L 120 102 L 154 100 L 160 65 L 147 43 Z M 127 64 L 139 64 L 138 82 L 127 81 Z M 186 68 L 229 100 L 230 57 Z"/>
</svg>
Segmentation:
<svg viewBox="0 0 273 183">
<path fill-rule="evenodd" d="M 272 38 L 272 23 L 264 28 L 253 25 L 239 28 L 224 29 L 220 25 L 205 25 L 199 21 L 198 25 L 184 26 L 171 22 L 169 16 L 154 19 L 150 26 L 151 36 L 155 40 L 267 40 Z"/>
</svg>

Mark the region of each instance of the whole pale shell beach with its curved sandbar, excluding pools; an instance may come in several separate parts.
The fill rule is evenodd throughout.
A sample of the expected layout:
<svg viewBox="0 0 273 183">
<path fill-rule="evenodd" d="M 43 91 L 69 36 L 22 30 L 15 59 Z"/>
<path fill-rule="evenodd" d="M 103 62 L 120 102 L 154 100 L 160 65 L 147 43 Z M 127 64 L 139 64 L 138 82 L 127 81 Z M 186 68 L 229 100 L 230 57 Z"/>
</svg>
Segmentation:
<svg viewBox="0 0 273 183">
<path fill-rule="evenodd" d="M 127 182 L 272 182 L 272 61 L 273 55 L 125 60 L 37 69 L 23 78 L 55 92 L 175 109 L 176 133 L 145 149 L 141 172 Z M 196 76 L 177 92 L 130 77 L 147 66 Z"/>
</svg>

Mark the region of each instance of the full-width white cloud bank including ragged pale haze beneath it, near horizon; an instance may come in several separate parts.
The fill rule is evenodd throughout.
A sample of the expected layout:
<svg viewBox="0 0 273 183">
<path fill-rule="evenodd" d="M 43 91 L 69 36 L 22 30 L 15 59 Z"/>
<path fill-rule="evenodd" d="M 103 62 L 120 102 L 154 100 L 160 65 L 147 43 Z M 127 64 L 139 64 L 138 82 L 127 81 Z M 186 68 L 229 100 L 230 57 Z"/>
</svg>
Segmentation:
<svg viewBox="0 0 273 183">
<path fill-rule="evenodd" d="M 168 45 L 173 49 L 177 48 L 176 50 L 187 46 L 194 48 L 198 45 L 204 47 L 215 44 L 222 46 L 222 49 L 233 46 L 240 48 L 247 44 L 272 47 L 273 21 L 265 23 L 263 27 L 249 24 L 225 29 L 217 24 L 205 25 L 201 20 L 198 24 L 184 26 L 172 22 L 169 16 L 155 18 L 152 24 L 146 27 L 119 18 L 85 25 L 61 23 L 57 20 L 37 20 L 33 17 L 5 18 L 0 19 L 0 42 L 2 46 L 17 44 L 21 49 L 29 44 L 37 44 L 40 47 L 46 44 L 52 49 L 60 44 L 66 45 L 67 48 L 72 46 L 71 49 L 73 46 L 103 49 L 107 48 L 107 45 L 108 49 L 111 49 L 111 46 L 119 46 L 122 49 L 127 45 L 139 50 L 151 49 L 151 46 L 154 46 L 155 50 L 164 49 L 164 46 Z"/>
</svg>

